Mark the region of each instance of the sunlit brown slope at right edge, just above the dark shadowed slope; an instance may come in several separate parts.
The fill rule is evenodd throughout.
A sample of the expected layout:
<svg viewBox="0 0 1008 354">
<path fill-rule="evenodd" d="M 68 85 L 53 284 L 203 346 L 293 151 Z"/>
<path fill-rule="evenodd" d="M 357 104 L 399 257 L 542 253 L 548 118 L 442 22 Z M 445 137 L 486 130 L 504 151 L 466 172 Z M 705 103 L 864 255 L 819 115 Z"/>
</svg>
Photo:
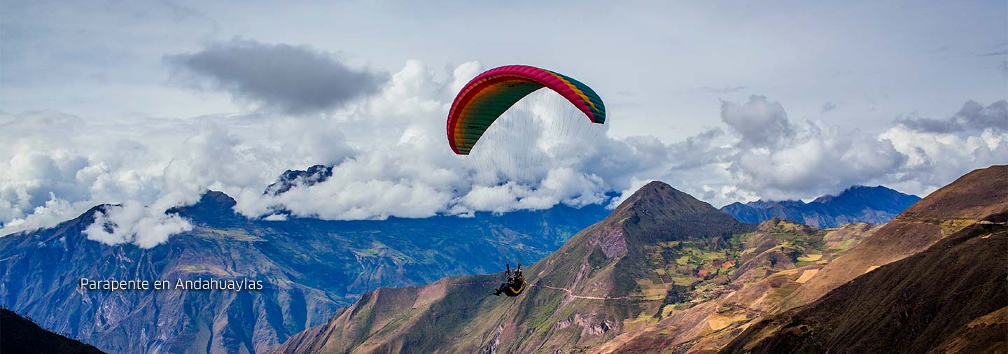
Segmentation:
<svg viewBox="0 0 1008 354">
<path fill-rule="evenodd" d="M 969 172 L 915 203 L 871 238 L 823 268 L 783 305 L 809 304 L 874 268 L 920 252 L 986 217 L 1008 212 L 1008 165 Z"/>
</svg>

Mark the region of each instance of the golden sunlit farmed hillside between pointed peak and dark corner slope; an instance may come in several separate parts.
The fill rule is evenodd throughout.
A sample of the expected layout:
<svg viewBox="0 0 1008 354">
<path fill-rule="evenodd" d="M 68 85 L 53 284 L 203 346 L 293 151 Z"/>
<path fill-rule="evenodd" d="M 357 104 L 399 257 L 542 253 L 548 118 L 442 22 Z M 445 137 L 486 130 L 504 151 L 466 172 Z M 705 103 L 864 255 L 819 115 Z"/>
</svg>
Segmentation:
<svg viewBox="0 0 1008 354">
<path fill-rule="evenodd" d="M 626 331 L 590 352 L 716 351 L 877 228 L 850 224 L 818 230 L 780 219 L 765 221 L 756 232 L 739 236 L 741 265 L 721 293 L 666 307 L 656 324 Z"/>
</svg>

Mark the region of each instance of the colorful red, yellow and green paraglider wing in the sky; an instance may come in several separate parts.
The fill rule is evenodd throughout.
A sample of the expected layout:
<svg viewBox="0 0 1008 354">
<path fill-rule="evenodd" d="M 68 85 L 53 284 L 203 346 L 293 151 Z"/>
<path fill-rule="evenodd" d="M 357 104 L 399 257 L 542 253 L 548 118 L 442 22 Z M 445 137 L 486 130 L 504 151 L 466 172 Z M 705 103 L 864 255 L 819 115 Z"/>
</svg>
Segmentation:
<svg viewBox="0 0 1008 354">
<path fill-rule="evenodd" d="M 593 123 L 605 123 L 606 106 L 594 90 L 547 70 L 527 66 L 491 69 L 466 84 L 448 115 L 448 141 L 458 154 L 469 154 L 483 133 L 516 102 L 541 88 L 571 101 Z"/>
</svg>

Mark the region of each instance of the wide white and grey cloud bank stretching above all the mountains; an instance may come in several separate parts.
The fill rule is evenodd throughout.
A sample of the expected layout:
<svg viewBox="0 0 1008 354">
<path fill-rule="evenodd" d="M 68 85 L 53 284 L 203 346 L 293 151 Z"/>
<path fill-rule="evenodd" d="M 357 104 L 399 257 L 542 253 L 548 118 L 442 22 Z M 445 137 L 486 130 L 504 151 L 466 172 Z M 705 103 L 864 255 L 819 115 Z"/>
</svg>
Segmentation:
<svg viewBox="0 0 1008 354">
<path fill-rule="evenodd" d="M 856 184 L 922 195 L 1008 162 L 1005 101 L 970 101 L 950 117 L 865 132 L 796 121 L 784 104 L 752 96 L 720 102 L 724 126 L 669 142 L 613 137 L 610 124 L 631 124 L 619 112 L 595 125 L 557 95 L 537 92 L 472 155 L 458 156 L 446 143 L 445 116 L 459 88 L 484 69 L 475 62 L 438 71 L 410 61 L 384 76 L 309 47 L 247 40 L 166 62 L 253 109 L 132 120 L 0 113 L 0 235 L 111 204 L 89 238 L 152 247 L 192 229 L 165 211 L 208 189 L 234 197 L 235 210 L 250 218 L 358 220 L 614 205 L 621 199 L 607 194 L 626 197 L 651 180 L 715 206 L 808 199 Z M 263 194 L 284 170 L 313 164 L 333 166 L 332 176 Z"/>
</svg>

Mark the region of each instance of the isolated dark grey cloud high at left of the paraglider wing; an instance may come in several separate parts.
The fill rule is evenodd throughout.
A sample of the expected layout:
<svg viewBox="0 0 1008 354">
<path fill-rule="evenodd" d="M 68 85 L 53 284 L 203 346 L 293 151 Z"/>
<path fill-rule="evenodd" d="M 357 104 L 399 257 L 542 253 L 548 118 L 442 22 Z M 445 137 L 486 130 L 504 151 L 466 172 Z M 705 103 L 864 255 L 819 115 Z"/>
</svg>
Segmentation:
<svg viewBox="0 0 1008 354">
<path fill-rule="evenodd" d="M 378 92 L 386 77 L 348 67 L 307 45 L 235 38 L 201 51 L 166 55 L 191 84 L 288 114 L 327 111 Z"/>
</svg>

